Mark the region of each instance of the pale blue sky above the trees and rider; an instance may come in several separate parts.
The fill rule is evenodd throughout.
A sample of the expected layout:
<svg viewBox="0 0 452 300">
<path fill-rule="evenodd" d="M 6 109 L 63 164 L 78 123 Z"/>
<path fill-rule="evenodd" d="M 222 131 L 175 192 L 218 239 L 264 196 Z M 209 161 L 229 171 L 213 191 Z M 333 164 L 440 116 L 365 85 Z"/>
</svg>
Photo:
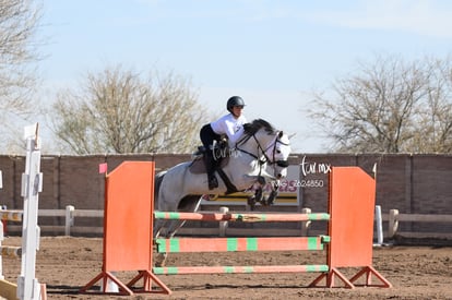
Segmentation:
<svg viewBox="0 0 452 300">
<path fill-rule="evenodd" d="M 331 151 L 307 116 L 313 91 L 377 55 L 452 53 L 448 0 L 44 0 L 41 23 L 44 99 L 109 65 L 171 71 L 215 116 L 241 96 L 247 119 L 290 134 L 294 153 Z"/>
</svg>

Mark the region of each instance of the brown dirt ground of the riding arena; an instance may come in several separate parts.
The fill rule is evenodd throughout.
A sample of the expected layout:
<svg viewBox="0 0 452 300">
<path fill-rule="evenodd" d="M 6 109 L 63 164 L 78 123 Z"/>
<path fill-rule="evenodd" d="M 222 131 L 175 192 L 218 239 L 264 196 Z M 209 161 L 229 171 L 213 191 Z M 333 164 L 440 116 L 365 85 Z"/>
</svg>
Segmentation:
<svg viewBox="0 0 452 300">
<path fill-rule="evenodd" d="M 20 238 L 4 244 L 20 245 Z M 44 237 L 37 257 L 36 278 L 47 285 L 48 299 L 452 299 L 451 247 L 381 247 L 373 252 L 373 266 L 393 288 L 307 288 L 319 275 L 240 274 L 178 275 L 159 278 L 171 296 L 133 297 L 80 295 L 79 289 L 102 269 L 99 238 Z M 324 263 L 324 252 L 203 253 L 178 254 L 167 265 L 251 265 Z M 191 256 L 189 256 L 191 255 Z M 188 259 L 187 259 L 188 257 Z M 349 271 L 344 271 L 348 275 Z M 20 260 L 3 257 L 5 279 L 16 281 Z M 133 274 L 118 274 L 123 280 Z M 338 281 L 336 281 L 338 283 Z M 378 283 L 373 280 L 372 283 Z"/>
</svg>

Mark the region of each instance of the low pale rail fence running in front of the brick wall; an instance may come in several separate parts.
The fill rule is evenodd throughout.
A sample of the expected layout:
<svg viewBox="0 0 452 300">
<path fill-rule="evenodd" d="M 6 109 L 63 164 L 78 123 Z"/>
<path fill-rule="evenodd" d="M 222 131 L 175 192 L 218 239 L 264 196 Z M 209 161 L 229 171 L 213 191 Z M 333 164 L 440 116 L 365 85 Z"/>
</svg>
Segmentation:
<svg viewBox="0 0 452 300">
<path fill-rule="evenodd" d="M 227 209 L 227 207 L 222 207 Z M 302 213 L 310 213 L 309 208 L 305 208 Z M 66 209 L 39 209 L 38 217 L 63 217 L 64 225 L 45 225 L 40 226 L 41 232 L 64 233 L 71 235 L 102 235 L 103 227 L 96 226 L 76 226 L 76 218 L 104 218 L 104 211 L 102 209 L 75 209 L 74 206 L 68 205 Z M 391 209 L 389 214 L 382 214 L 382 221 L 388 229 L 383 229 L 384 238 L 392 239 L 396 235 L 408 238 L 445 238 L 452 239 L 452 232 L 415 232 L 401 231 L 400 223 L 452 223 L 452 215 L 428 215 L 428 214 L 401 214 L 397 209 Z M 8 230 L 11 232 L 19 232 L 20 226 L 9 225 Z M 182 228 L 179 232 L 181 235 L 198 235 L 198 236 L 247 236 L 250 231 L 261 236 L 307 236 L 310 230 L 310 223 L 301 224 L 300 229 L 272 229 L 265 228 L 260 232 L 255 229 L 249 228 L 229 228 L 227 221 L 219 223 L 217 228 Z M 312 233 L 312 232 L 311 232 Z"/>
</svg>

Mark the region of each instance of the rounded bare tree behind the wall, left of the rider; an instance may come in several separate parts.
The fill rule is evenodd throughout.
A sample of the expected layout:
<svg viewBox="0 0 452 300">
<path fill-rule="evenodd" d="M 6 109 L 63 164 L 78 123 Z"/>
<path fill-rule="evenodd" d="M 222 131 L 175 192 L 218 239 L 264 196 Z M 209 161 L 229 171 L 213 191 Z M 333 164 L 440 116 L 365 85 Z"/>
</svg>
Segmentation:
<svg viewBox="0 0 452 300">
<path fill-rule="evenodd" d="M 59 93 L 53 111 L 57 137 L 75 154 L 191 152 L 206 115 L 187 80 L 142 80 L 121 67 L 88 73 L 83 88 Z"/>
</svg>

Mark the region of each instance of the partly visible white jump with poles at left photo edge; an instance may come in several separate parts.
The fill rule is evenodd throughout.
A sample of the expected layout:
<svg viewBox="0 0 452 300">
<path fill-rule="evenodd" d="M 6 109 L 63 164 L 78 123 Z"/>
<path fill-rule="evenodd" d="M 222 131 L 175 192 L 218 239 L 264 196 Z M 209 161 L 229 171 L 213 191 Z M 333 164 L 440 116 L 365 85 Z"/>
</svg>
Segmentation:
<svg viewBox="0 0 452 300">
<path fill-rule="evenodd" d="M 23 211 L 0 209 L 0 297 L 7 299 L 38 300 L 46 299 L 46 286 L 35 278 L 36 251 L 39 244 L 38 193 L 43 190 L 40 172 L 40 149 L 38 143 L 38 125 L 25 128 L 26 158 L 25 172 L 22 175 Z M 1 172 L 0 172 L 1 175 Z M 1 245 L 3 221 L 22 223 L 22 245 Z M 21 274 L 17 285 L 4 280 L 2 273 L 2 255 L 21 257 Z"/>
</svg>

